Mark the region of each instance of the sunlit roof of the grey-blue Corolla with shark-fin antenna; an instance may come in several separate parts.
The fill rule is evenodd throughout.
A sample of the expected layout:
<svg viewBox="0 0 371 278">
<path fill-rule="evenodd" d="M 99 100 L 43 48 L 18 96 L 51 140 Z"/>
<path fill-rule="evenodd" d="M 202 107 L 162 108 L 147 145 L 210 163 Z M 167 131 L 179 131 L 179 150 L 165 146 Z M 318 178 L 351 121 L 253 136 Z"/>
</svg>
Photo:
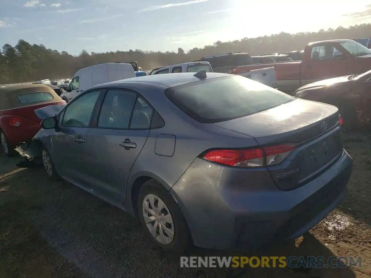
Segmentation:
<svg viewBox="0 0 371 278">
<path fill-rule="evenodd" d="M 192 83 L 196 81 L 200 81 L 199 78 L 194 76 L 195 73 L 193 72 L 184 72 L 184 73 L 165 73 L 161 75 L 146 75 L 146 76 L 138 76 L 132 77 L 128 79 L 122 79 L 114 82 L 104 83 L 101 85 L 96 85 L 94 88 L 100 87 L 121 87 L 125 85 L 134 85 L 134 83 L 138 84 L 147 84 L 147 85 L 158 85 L 164 87 L 175 87 L 184 85 L 187 83 Z M 218 72 L 208 72 L 206 77 L 207 79 L 213 79 L 217 77 L 224 77 L 224 76 L 233 76 L 228 73 L 218 73 Z"/>
</svg>

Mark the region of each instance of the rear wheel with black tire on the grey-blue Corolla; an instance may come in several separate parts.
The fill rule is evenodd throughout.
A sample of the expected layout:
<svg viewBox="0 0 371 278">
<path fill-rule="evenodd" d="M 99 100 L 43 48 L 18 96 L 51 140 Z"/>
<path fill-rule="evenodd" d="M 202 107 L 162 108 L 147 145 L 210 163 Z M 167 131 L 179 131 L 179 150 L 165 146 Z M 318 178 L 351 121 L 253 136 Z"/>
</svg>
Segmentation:
<svg viewBox="0 0 371 278">
<path fill-rule="evenodd" d="M 153 198 L 154 204 L 151 203 L 151 198 Z M 148 205 L 148 201 L 150 205 Z M 156 215 L 156 206 L 158 206 L 159 201 L 162 201 L 164 205 L 160 214 Z M 144 208 L 144 203 L 147 203 L 148 207 L 152 208 L 151 211 L 152 214 L 154 214 L 154 216 L 151 216 L 152 222 L 148 222 L 150 221 L 148 217 L 150 214 L 147 212 L 148 209 Z M 144 219 L 145 214 L 148 217 L 147 223 Z M 191 245 L 190 231 L 179 206 L 175 202 L 173 196 L 154 179 L 145 182 L 139 191 L 138 215 L 145 230 L 145 234 L 151 238 L 155 245 L 160 246 L 164 251 L 181 254 Z M 170 215 L 170 217 L 168 215 Z M 164 216 L 166 216 L 166 218 Z M 171 221 L 173 224 L 170 224 Z M 154 225 L 157 225 L 155 230 L 152 229 L 156 238 L 150 232 L 150 228 Z M 171 231 L 173 234 L 171 234 Z"/>
</svg>

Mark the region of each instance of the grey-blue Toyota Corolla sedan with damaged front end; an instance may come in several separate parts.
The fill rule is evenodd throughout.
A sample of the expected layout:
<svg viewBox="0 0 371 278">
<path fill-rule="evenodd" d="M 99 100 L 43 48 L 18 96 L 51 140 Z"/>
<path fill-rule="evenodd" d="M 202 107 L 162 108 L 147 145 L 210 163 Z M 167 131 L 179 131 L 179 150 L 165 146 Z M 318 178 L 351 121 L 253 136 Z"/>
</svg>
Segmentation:
<svg viewBox="0 0 371 278">
<path fill-rule="evenodd" d="M 19 152 L 137 216 L 168 251 L 301 236 L 344 198 L 352 172 L 335 106 L 242 76 L 135 77 L 35 113 L 42 129 Z"/>
</svg>

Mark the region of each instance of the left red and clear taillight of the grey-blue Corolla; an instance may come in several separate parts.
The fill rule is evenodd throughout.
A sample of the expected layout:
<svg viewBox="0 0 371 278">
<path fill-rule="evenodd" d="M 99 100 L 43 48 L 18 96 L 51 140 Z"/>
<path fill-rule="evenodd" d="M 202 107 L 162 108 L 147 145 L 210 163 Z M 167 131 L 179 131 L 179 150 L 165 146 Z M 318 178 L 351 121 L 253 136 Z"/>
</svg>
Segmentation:
<svg viewBox="0 0 371 278">
<path fill-rule="evenodd" d="M 295 149 L 293 145 L 276 145 L 247 150 L 211 150 L 203 158 L 227 166 L 264 167 L 282 162 Z"/>
</svg>

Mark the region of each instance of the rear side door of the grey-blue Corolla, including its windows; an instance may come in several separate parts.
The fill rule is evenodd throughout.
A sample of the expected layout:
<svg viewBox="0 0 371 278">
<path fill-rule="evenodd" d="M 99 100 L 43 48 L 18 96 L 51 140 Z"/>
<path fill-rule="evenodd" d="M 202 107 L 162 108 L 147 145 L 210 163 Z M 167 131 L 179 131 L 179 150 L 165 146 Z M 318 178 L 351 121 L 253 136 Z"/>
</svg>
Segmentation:
<svg viewBox="0 0 371 278">
<path fill-rule="evenodd" d="M 88 130 L 89 183 L 111 203 L 122 203 L 132 165 L 149 135 L 153 109 L 136 92 L 109 89 Z"/>
</svg>

